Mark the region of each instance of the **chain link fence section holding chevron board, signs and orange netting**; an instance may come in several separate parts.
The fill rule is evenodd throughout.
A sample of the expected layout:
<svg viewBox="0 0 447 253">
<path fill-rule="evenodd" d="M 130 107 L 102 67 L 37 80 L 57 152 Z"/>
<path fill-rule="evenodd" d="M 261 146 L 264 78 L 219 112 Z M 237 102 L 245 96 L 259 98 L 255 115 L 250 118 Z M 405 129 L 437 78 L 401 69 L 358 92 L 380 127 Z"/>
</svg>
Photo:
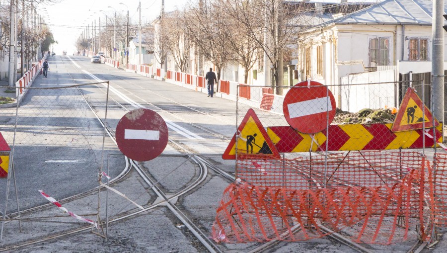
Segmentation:
<svg viewBox="0 0 447 253">
<path fill-rule="evenodd" d="M 299 241 L 329 228 L 363 243 L 430 240 L 434 210 L 443 218 L 446 203 L 435 208 L 434 196 L 447 186 L 439 182 L 444 168 L 424 156 L 443 141 L 426 92 L 422 79 L 308 81 L 284 96 L 263 94 L 259 108 L 238 96 L 238 127 L 225 151 L 238 179 L 224 192 L 215 237 Z"/>
</svg>

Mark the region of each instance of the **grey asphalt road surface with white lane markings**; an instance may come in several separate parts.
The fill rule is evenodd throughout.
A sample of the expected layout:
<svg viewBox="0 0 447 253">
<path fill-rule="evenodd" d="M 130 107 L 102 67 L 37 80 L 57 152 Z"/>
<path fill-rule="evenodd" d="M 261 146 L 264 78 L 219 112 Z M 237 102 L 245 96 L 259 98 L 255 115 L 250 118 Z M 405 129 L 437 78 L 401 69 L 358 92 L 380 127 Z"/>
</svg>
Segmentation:
<svg viewBox="0 0 447 253">
<path fill-rule="evenodd" d="M 119 175 L 127 163 L 111 138 L 114 135 L 113 129 L 123 115 L 137 108 L 152 109 L 167 123 L 169 138 L 173 142 L 168 143 L 163 156 L 140 163 L 167 193 L 179 191 L 198 173 L 193 163 L 183 165 L 184 158 L 172 157 L 184 152 L 174 143 L 190 153 L 204 155 L 210 163 L 227 172 L 234 172 L 234 161 L 222 160 L 221 155 L 234 135 L 236 110 L 240 113 L 248 107 L 237 108 L 236 102 L 232 100 L 207 97 L 202 92 L 114 69 L 105 64 L 91 64 L 87 57 L 52 56 L 49 62 L 48 78 L 38 76 L 32 86 L 45 89 L 30 89 L 17 111 L 15 138 L 16 108 L 0 109 L 1 133 L 9 144 L 16 144 L 14 169 L 21 210 L 48 203 L 38 190 L 45 191 L 55 199 L 63 199 L 96 187 L 99 169 L 107 171 L 111 177 Z M 100 83 L 106 81 L 110 85 L 108 99 L 107 84 Z M 61 88 L 73 84 L 88 85 Z M 273 115 L 271 120 L 281 121 L 277 115 Z M 283 121 L 281 124 L 284 124 Z M 111 136 L 106 133 L 104 137 L 101 122 L 111 129 Z M 0 192 L 6 193 L 6 179 L 0 180 L 3 181 Z M 228 181 L 210 173 L 196 191 L 178 199 L 177 204 L 182 210 L 202 229 L 208 231 L 210 236 L 216 208 L 227 185 Z M 149 186 L 135 172 L 131 172 L 114 187 L 140 204 L 149 203 L 155 198 L 148 193 Z M 0 207 L 4 206 L 1 203 L 5 203 L 5 195 L 0 194 Z M 7 212 L 17 210 L 15 199 L 14 182 L 11 181 Z M 117 195 L 111 196 L 108 205 L 113 210 L 112 213 L 134 207 Z M 96 208 L 95 196 L 70 204 L 70 209 L 79 214 L 94 213 Z M 0 211 L 3 212 L 3 208 Z M 100 212 L 104 217 L 103 202 Z M 50 207 L 47 213 L 39 213 L 41 216 L 57 214 L 60 215 L 61 212 L 56 207 Z M 15 225 L 7 226 L 8 236 L 5 240 L 11 245 L 19 244 L 32 236 L 45 237 L 59 226 L 60 224 L 47 221 L 32 225 L 26 223 L 25 233 L 19 234 Z M 68 229 L 69 225 L 63 223 L 63 226 Z M 203 248 L 194 247 L 195 245 L 193 237 L 181 227 L 181 223 L 166 208 L 160 207 L 145 215 L 112 225 L 109 228 L 109 240 L 91 233 L 81 233 L 20 249 L 18 252 L 203 251 Z M 374 249 L 380 252 L 405 252 L 410 246 L 411 242 L 405 242 L 390 247 L 374 246 Z M 253 244 L 223 245 L 222 250 L 248 252 L 252 247 Z M 281 243 L 270 252 L 354 251 L 322 238 Z"/>
</svg>

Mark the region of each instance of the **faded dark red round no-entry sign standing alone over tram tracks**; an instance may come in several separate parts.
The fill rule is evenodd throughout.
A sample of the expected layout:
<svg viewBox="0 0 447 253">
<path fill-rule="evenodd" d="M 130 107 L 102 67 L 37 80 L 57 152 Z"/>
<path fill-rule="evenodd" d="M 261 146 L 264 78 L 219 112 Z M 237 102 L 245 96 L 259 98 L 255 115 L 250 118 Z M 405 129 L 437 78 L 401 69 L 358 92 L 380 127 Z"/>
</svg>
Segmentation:
<svg viewBox="0 0 447 253">
<path fill-rule="evenodd" d="M 116 143 L 120 151 L 135 161 L 149 161 L 166 148 L 168 129 L 158 113 L 135 109 L 124 115 L 116 126 Z"/>
</svg>

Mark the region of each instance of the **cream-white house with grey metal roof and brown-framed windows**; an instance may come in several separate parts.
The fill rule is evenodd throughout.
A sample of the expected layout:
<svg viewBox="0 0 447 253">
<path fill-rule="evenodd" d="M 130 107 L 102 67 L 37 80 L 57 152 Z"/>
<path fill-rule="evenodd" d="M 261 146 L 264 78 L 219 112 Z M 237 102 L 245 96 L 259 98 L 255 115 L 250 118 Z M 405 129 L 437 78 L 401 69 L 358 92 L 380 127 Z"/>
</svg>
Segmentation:
<svg viewBox="0 0 447 253">
<path fill-rule="evenodd" d="M 388 71 L 371 74 L 374 83 L 398 81 L 398 73 L 430 72 L 432 8 L 432 0 L 384 0 L 313 27 L 306 31 L 308 39 L 298 44 L 298 71 L 302 80 L 346 84 L 352 81 L 347 78 L 349 74 L 376 71 L 377 67 Z M 369 77 L 362 79 L 357 82 L 373 83 Z M 381 102 L 358 107 L 395 104 L 392 100 L 396 100 L 396 95 L 390 94 L 396 92 L 395 87 L 387 87 L 380 89 Z M 356 111 L 359 108 L 348 106 L 347 99 L 359 100 L 356 103 L 371 100 L 368 97 L 371 88 L 364 88 L 347 91 L 342 86 L 332 87 L 337 106 Z M 362 93 L 366 95 L 358 97 Z"/>
</svg>

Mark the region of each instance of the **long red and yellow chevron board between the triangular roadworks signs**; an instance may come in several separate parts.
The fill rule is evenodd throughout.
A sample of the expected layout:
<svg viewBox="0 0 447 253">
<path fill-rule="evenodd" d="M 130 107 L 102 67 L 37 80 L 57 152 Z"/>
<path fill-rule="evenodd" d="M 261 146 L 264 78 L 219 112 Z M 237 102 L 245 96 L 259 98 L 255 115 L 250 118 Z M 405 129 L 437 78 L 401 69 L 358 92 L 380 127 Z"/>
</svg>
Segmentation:
<svg viewBox="0 0 447 253">
<path fill-rule="evenodd" d="M 389 124 L 329 125 L 314 135 L 295 131 L 290 126 L 267 127 L 267 134 L 280 153 L 350 150 L 420 149 L 424 147 L 422 129 L 391 132 Z M 433 129 L 426 129 L 433 134 Z M 436 139 L 443 141 L 442 124 L 436 127 Z M 329 132 L 329 140 L 327 139 Z M 425 135 L 425 147 L 434 147 L 433 139 Z"/>
</svg>

